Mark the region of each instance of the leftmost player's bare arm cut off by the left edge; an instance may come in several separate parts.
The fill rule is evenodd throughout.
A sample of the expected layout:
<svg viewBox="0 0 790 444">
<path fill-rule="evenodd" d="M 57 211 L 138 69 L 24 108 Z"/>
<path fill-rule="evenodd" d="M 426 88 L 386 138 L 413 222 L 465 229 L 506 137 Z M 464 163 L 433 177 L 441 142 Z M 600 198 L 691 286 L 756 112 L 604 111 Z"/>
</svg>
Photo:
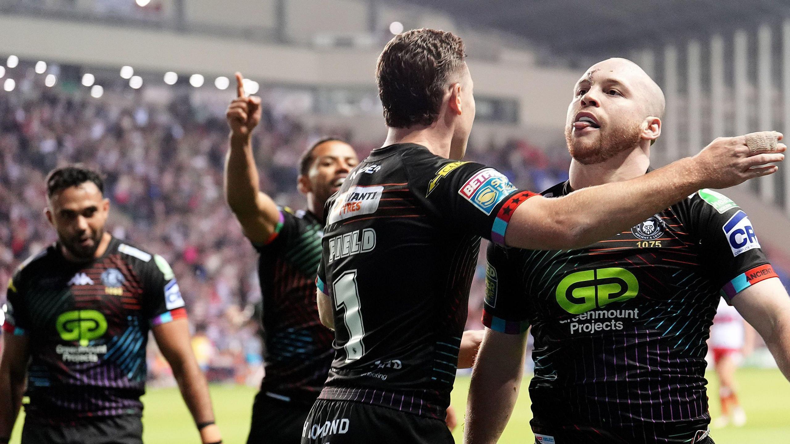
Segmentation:
<svg viewBox="0 0 790 444">
<path fill-rule="evenodd" d="M 28 337 L 3 335 L 0 357 L 0 442 L 8 442 L 22 405 L 28 374 Z"/>
</svg>

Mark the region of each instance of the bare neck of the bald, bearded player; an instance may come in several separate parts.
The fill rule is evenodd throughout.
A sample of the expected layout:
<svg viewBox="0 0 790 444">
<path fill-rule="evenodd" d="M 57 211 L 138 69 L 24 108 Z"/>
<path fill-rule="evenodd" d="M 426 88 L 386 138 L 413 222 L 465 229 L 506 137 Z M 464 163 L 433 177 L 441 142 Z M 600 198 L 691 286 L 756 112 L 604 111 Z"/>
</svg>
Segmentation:
<svg viewBox="0 0 790 444">
<path fill-rule="evenodd" d="M 650 166 L 649 147 L 645 150 L 637 146 L 624 151 L 600 164 L 581 164 L 570 161 L 570 187 L 581 190 L 587 186 L 611 182 L 623 182 L 644 175 Z"/>
</svg>

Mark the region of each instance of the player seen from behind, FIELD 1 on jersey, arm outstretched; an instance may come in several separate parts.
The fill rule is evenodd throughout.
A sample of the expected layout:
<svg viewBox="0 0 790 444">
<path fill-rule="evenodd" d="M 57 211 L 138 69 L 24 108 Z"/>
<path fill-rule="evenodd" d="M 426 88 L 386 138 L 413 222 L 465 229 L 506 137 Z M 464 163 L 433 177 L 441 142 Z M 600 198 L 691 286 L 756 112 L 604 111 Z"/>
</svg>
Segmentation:
<svg viewBox="0 0 790 444">
<path fill-rule="evenodd" d="M 378 58 L 389 131 L 327 201 L 318 306 L 337 353 L 304 443 L 453 442 L 442 418 L 481 236 L 585 246 L 699 188 L 769 174 L 776 167 L 747 168 L 781 157 L 720 139 L 638 179 L 536 196 L 461 161 L 475 116 L 464 58 L 461 39 L 431 29 L 395 36 Z"/>
</svg>

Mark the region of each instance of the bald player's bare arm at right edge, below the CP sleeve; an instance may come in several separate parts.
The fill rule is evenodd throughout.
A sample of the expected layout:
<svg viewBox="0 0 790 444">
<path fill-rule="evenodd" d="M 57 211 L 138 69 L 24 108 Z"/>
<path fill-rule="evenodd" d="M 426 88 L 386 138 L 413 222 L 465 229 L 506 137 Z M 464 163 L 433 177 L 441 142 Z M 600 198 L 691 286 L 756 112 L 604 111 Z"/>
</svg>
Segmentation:
<svg viewBox="0 0 790 444">
<path fill-rule="evenodd" d="M 732 298 L 732 305 L 749 322 L 790 381 L 790 296 L 778 277 L 761 280 Z"/>
</svg>

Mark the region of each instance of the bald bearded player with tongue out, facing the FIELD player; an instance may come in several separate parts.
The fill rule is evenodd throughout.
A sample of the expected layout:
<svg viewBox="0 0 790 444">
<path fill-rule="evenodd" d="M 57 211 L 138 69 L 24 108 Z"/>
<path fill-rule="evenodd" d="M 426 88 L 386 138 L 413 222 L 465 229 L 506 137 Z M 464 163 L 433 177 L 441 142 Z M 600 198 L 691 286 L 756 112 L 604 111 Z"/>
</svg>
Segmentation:
<svg viewBox="0 0 790 444">
<path fill-rule="evenodd" d="M 570 180 L 544 197 L 660 171 L 649 153 L 663 114 L 663 92 L 634 62 L 592 66 L 568 107 Z M 712 443 L 705 340 L 720 296 L 790 378 L 790 299 L 776 277 L 747 215 L 706 189 L 585 248 L 491 244 L 465 442 L 496 442 L 506 426 L 531 326 L 536 442 Z"/>
</svg>

